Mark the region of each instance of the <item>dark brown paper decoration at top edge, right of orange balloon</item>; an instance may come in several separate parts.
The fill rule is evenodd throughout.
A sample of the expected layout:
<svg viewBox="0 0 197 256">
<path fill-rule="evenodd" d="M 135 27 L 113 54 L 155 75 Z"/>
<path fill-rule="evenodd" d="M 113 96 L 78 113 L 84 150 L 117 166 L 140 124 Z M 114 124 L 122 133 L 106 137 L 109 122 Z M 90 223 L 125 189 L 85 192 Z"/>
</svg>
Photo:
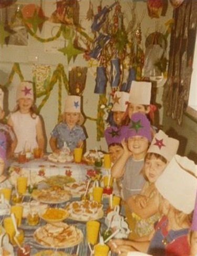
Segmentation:
<svg viewBox="0 0 197 256">
<path fill-rule="evenodd" d="M 77 0 L 62 0 L 56 2 L 56 11 L 49 21 L 67 25 L 79 25 L 79 3 Z"/>
</svg>

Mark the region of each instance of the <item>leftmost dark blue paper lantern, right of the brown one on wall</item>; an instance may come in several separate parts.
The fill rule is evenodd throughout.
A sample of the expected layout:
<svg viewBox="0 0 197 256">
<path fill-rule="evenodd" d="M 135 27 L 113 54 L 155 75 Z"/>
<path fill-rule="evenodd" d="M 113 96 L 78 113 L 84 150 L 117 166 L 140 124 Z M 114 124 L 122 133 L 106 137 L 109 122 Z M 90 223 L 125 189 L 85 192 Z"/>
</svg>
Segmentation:
<svg viewBox="0 0 197 256">
<path fill-rule="evenodd" d="M 106 69 L 104 67 L 97 67 L 97 77 L 96 77 L 96 86 L 95 93 L 104 94 L 106 93 L 107 86 L 107 77 Z"/>
</svg>

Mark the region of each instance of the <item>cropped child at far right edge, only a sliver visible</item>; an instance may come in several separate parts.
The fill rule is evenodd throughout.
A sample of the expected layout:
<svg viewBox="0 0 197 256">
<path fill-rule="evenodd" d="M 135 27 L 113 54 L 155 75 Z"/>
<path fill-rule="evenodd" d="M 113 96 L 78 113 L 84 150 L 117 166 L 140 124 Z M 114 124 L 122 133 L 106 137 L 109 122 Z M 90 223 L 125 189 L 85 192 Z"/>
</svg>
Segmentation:
<svg viewBox="0 0 197 256">
<path fill-rule="evenodd" d="M 191 241 L 190 241 L 190 256 L 197 254 L 197 190 L 195 196 L 195 208 L 193 212 L 193 219 L 191 225 Z"/>
</svg>

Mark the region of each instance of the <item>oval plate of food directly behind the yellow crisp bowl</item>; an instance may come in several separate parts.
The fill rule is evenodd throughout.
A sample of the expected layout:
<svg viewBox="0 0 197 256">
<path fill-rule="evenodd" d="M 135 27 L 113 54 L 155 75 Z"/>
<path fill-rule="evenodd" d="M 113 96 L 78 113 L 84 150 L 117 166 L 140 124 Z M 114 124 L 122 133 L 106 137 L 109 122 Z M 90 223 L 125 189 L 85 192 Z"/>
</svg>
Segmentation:
<svg viewBox="0 0 197 256">
<path fill-rule="evenodd" d="M 47 204 L 64 203 L 71 198 L 71 195 L 68 191 L 65 191 L 58 186 L 34 189 L 31 196 L 34 198 L 34 200 Z"/>
</svg>

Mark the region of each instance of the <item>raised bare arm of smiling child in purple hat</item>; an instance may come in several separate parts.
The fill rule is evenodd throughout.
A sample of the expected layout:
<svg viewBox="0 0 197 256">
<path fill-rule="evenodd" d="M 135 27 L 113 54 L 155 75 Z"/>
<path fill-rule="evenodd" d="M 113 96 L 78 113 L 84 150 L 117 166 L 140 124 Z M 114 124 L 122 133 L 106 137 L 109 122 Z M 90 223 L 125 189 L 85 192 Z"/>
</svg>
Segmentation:
<svg viewBox="0 0 197 256">
<path fill-rule="evenodd" d="M 125 164 L 132 153 L 128 150 L 125 139 L 122 140 L 123 153 L 111 167 L 111 175 L 114 178 L 120 178 L 125 173 Z"/>
</svg>

